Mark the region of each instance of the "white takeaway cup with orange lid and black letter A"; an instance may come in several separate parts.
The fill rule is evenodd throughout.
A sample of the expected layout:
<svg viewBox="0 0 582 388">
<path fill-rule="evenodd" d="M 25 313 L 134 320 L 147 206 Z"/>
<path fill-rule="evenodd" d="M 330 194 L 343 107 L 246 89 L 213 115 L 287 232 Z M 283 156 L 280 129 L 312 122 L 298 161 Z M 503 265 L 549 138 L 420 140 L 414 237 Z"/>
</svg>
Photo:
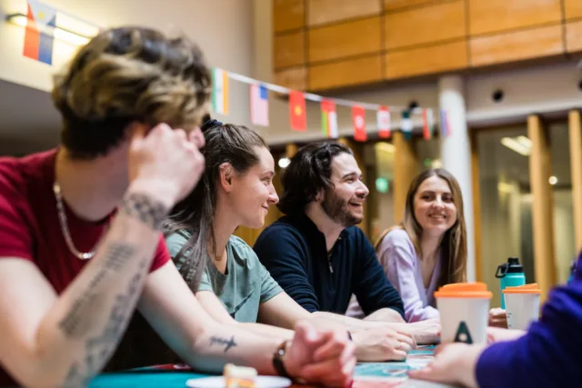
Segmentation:
<svg viewBox="0 0 582 388">
<path fill-rule="evenodd" d="M 485 283 L 447 284 L 435 292 L 441 343 L 487 343 L 489 303 Z"/>
</svg>

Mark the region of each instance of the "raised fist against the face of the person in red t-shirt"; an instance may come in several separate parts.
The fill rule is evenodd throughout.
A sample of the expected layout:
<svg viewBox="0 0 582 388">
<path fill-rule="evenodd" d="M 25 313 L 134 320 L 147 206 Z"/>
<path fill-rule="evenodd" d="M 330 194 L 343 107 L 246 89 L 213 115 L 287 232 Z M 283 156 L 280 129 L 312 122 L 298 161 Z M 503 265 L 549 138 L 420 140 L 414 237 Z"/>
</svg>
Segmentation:
<svg viewBox="0 0 582 388">
<path fill-rule="evenodd" d="M 199 129 L 186 134 L 158 124 L 146 134 L 145 126 L 137 127 L 129 146 L 130 182 L 144 182 L 169 205 L 176 204 L 192 191 L 204 171 L 199 151 L 203 145 Z"/>
</svg>

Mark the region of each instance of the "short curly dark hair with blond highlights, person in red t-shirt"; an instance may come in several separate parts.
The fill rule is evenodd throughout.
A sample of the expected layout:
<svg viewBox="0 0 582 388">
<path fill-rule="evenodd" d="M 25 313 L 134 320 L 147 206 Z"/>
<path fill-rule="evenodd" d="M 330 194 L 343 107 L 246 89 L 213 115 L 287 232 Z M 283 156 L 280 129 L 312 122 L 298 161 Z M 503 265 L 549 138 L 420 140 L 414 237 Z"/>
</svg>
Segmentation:
<svg viewBox="0 0 582 388">
<path fill-rule="evenodd" d="M 105 30 L 55 75 L 62 143 L 73 158 L 93 159 L 119 144 L 132 122 L 192 129 L 209 110 L 211 81 L 202 52 L 186 37 Z"/>
</svg>

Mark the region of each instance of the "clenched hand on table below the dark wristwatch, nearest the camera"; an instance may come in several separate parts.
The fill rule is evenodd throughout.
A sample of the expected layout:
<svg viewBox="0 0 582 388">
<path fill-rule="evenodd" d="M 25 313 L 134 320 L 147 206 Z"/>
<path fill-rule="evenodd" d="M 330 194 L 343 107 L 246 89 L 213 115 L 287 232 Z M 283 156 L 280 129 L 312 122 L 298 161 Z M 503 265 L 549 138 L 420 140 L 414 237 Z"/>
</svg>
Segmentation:
<svg viewBox="0 0 582 388">
<path fill-rule="evenodd" d="M 306 383 L 345 387 L 356 367 L 356 345 L 344 330 L 321 331 L 301 322 L 287 345 L 284 363 L 287 373 Z"/>
</svg>

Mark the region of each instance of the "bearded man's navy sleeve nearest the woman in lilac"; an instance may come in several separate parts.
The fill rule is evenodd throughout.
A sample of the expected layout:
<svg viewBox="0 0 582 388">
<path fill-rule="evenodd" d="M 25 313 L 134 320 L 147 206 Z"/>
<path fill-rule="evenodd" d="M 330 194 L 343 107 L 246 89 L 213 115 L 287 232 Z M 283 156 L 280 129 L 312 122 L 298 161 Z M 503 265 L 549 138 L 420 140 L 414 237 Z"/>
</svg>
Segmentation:
<svg viewBox="0 0 582 388">
<path fill-rule="evenodd" d="M 359 274 L 354 284 L 357 303 L 366 315 L 376 310 L 389 308 L 399 313 L 404 319 L 404 304 L 400 294 L 386 277 L 384 269 L 378 262 L 374 247 L 359 228 L 356 228 L 356 234 L 360 246 L 358 260 L 361 261 L 357 266 Z"/>
</svg>

